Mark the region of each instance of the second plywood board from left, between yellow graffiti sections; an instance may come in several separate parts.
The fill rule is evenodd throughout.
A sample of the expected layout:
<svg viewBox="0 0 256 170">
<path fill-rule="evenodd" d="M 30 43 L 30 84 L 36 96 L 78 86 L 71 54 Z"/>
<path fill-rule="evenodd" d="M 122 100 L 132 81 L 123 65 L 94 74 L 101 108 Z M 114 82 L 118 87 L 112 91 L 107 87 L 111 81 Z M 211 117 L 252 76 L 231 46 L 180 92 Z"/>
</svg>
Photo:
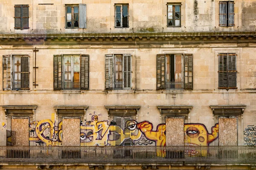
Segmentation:
<svg viewBox="0 0 256 170">
<path fill-rule="evenodd" d="M 62 145 L 80 146 L 80 119 L 62 120 Z"/>
</svg>

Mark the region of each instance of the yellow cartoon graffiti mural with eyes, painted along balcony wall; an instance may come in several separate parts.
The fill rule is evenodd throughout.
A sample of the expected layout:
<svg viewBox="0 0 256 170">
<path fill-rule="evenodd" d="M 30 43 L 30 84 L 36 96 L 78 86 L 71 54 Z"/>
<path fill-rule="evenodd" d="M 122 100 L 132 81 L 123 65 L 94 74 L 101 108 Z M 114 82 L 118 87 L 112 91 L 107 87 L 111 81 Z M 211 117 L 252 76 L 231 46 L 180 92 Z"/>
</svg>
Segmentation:
<svg viewBox="0 0 256 170">
<path fill-rule="evenodd" d="M 29 130 L 31 146 L 62 145 L 62 122 L 58 123 L 54 118 L 32 122 L 29 124 Z M 218 124 L 212 127 L 210 133 L 203 124 L 184 124 L 185 146 L 208 146 L 217 138 Z M 81 121 L 81 146 L 116 146 L 127 143 L 129 145 L 166 146 L 166 124 L 159 124 L 156 130 L 153 130 L 151 122 L 138 123 L 135 120 L 128 120 L 125 122 L 125 128 L 122 129 L 113 121 L 110 124 L 108 121 L 98 121 L 97 115 L 92 115 L 91 120 L 85 123 Z"/>
</svg>

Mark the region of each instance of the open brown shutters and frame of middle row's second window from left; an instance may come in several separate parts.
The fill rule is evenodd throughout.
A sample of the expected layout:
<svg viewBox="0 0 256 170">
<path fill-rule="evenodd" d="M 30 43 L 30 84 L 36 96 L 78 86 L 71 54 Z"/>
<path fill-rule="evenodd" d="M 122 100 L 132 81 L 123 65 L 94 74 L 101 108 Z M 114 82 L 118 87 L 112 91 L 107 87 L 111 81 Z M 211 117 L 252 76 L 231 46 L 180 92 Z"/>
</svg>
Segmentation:
<svg viewBox="0 0 256 170">
<path fill-rule="evenodd" d="M 80 56 L 79 88 L 64 89 L 64 56 Z M 53 89 L 54 90 L 89 90 L 89 55 L 61 54 L 53 55 Z M 73 62 L 71 62 L 72 64 Z M 72 65 L 70 64 L 70 67 Z M 74 80 L 73 80 L 74 81 Z"/>
</svg>

